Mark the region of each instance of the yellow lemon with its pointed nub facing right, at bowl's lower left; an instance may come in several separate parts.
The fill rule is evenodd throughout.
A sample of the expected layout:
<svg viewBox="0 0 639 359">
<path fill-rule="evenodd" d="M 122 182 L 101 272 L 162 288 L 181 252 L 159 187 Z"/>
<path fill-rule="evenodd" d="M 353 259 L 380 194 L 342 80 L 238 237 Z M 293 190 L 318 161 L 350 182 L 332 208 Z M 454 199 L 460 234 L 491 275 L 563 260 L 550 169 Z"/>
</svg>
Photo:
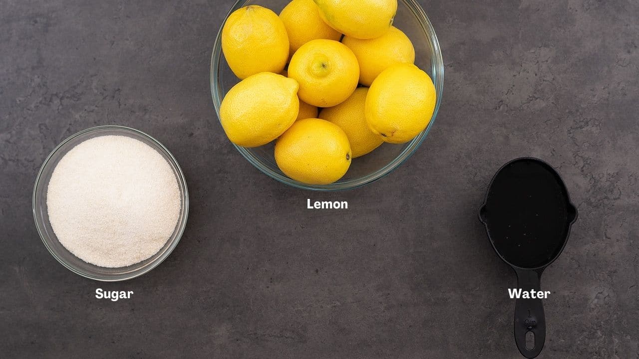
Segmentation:
<svg viewBox="0 0 639 359">
<path fill-rule="evenodd" d="M 229 90 L 220 106 L 220 122 L 231 142 L 257 147 L 277 139 L 297 118 L 300 102 L 293 79 L 261 72 Z"/>
</svg>

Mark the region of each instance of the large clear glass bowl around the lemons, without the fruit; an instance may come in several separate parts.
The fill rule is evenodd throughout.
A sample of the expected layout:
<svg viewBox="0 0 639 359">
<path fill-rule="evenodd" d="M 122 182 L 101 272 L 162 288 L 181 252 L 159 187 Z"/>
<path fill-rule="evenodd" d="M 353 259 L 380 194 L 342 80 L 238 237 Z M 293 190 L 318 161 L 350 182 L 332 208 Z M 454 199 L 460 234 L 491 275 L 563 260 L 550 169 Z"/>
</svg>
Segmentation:
<svg viewBox="0 0 639 359">
<path fill-rule="evenodd" d="M 270 8 L 275 13 L 280 11 L 289 3 L 290 0 L 239 0 L 233 5 L 229 14 L 243 6 L 258 4 Z M 273 143 L 266 144 L 258 148 L 243 148 L 235 146 L 249 162 L 257 167 L 260 171 L 268 176 L 297 188 L 318 191 L 334 191 L 348 190 L 351 188 L 362 187 L 367 183 L 371 183 L 376 179 L 386 176 L 394 169 L 403 164 L 424 141 L 426 135 L 435 123 L 435 116 L 442 102 L 443 92 L 443 60 L 442 52 L 435 29 L 428 20 L 424 9 L 414 0 L 399 0 L 397 2 L 397 15 L 393 25 L 404 31 L 406 36 L 410 38 L 415 47 L 415 65 L 419 66 L 433 79 L 437 93 L 437 101 L 435 104 L 435 112 L 428 127 L 415 139 L 405 144 L 382 144 L 379 148 L 363 157 L 353 159 L 351 167 L 346 175 L 339 181 L 330 185 L 307 185 L 300 181 L 295 181 L 282 173 L 275 163 L 273 155 Z M 227 18 L 228 15 L 227 14 Z M 222 24 L 224 26 L 224 24 Z M 231 68 L 224 59 L 222 54 L 221 43 L 222 29 L 215 38 L 213 46 L 213 55 L 211 59 L 211 95 L 213 96 L 213 105 L 217 116 L 220 116 L 220 103 L 224 95 L 240 80 L 235 77 Z"/>
</svg>

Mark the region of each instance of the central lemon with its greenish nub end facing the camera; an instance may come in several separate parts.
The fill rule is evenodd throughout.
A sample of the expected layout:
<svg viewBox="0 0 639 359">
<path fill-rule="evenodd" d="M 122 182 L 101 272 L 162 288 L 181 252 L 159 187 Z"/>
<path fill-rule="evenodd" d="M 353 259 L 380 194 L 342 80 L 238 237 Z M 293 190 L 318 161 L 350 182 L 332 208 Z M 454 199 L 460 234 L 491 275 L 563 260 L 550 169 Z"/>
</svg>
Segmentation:
<svg viewBox="0 0 639 359">
<path fill-rule="evenodd" d="M 357 57 L 341 42 L 311 40 L 298 49 L 288 76 L 300 84 L 300 99 L 318 107 L 335 106 L 350 96 L 359 80 Z"/>
</svg>

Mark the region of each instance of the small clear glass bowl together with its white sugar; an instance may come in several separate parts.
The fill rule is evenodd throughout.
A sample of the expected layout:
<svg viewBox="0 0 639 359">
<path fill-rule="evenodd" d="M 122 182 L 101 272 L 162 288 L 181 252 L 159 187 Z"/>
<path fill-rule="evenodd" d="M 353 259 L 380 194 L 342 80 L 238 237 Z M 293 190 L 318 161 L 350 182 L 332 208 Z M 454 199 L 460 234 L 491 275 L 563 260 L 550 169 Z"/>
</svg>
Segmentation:
<svg viewBox="0 0 639 359">
<path fill-rule="evenodd" d="M 189 194 L 160 142 L 124 126 L 72 135 L 44 161 L 33 190 L 43 243 L 89 279 L 127 280 L 162 263 L 180 241 Z"/>
</svg>

